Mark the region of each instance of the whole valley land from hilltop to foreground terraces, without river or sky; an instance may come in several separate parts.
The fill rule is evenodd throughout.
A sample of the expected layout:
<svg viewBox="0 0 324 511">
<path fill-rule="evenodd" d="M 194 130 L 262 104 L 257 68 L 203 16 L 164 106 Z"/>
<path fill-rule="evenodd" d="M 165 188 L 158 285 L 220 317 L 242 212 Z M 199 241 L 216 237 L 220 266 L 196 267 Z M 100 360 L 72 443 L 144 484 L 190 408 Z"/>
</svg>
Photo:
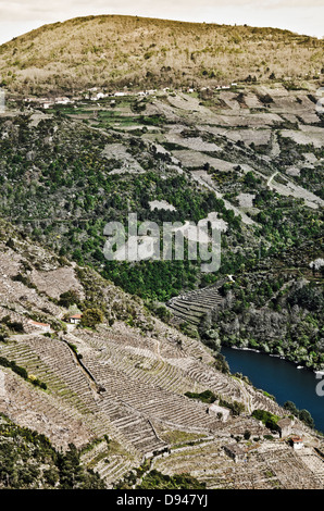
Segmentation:
<svg viewBox="0 0 324 511">
<path fill-rule="evenodd" d="M 0 47 L 0 488 L 323 489 L 309 412 L 221 352 L 324 370 L 323 41 L 203 25 Z M 177 223 L 183 257 L 108 260 L 129 213 Z"/>
</svg>

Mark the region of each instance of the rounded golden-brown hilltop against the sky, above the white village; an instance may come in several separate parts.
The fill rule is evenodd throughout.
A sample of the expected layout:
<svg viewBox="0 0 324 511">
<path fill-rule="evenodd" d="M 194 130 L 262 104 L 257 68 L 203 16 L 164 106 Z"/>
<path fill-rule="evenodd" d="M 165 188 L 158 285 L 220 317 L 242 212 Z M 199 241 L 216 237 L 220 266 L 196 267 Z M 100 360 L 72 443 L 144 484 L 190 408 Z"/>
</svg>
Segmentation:
<svg viewBox="0 0 324 511">
<path fill-rule="evenodd" d="M 89 16 L 0 47 L 3 86 L 22 94 L 89 87 L 202 87 L 319 77 L 323 40 L 275 28 Z"/>
</svg>

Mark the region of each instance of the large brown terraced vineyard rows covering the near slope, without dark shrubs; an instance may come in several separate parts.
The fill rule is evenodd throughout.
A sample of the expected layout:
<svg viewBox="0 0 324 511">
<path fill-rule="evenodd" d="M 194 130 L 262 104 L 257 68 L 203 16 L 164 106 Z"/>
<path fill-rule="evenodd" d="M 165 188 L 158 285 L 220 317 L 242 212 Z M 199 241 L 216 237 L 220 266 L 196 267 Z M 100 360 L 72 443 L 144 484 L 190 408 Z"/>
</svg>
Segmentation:
<svg viewBox="0 0 324 511">
<path fill-rule="evenodd" d="M 221 472 L 213 470 L 212 476 L 211 469 L 207 469 L 212 466 L 211 459 L 216 461 L 221 456 L 223 460 L 225 454 L 220 451 L 221 444 L 233 441 L 234 437 L 242 438 L 248 431 L 259 438 L 260 447 L 256 444 L 256 452 L 266 447 L 269 440 L 264 435 L 271 432 L 251 413 L 264 409 L 283 416 L 285 410 L 242 379 L 216 371 L 213 353 L 199 340 L 186 337 L 153 317 L 149 334 L 120 320 L 112 326 L 102 324 L 96 331 L 83 327 L 68 327 L 67 331 L 65 325 L 64 332 L 64 323 L 58 323 L 58 317 L 64 316 L 64 308 L 47 294 L 55 292 L 50 284 L 39 291 L 37 287 L 12 279 L 26 266 L 27 248 L 28 242 L 18 238 L 14 249 L 2 241 L 0 288 L 5 289 L 7 295 L 2 295 L 1 317 L 7 317 L 7 325 L 21 323 L 25 332 L 7 334 L 0 345 L 0 356 L 1 360 L 15 362 L 16 367 L 23 367 L 27 374 L 27 379 L 23 379 L 9 366 L 0 367 L 2 413 L 21 426 L 46 434 L 55 447 L 66 449 L 73 443 L 80 449 L 84 465 L 98 472 L 108 487 L 123 481 L 129 470 L 139 466 L 145 459 L 150 460 L 151 469 L 161 468 L 165 473 L 190 470 L 209 487 L 223 487 L 223 469 Z M 28 262 L 30 275 L 35 275 L 37 253 L 34 246 L 36 259 Z M 79 292 L 87 296 L 87 287 L 77 281 L 75 266 L 60 266 L 53 254 L 39 253 L 42 254 L 43 286 L 51 282 L 53 272 L 55 275 L 62 273 L 65 279 L 68 275 L 67 286 L 74 282 Z M 109 307 L 114 308 L 112 310 L 130 304 L 130 297 L 114 290 L 112 284 L 107 285 L 99 276 L 96 278 L 96 286 L 100 283 L 100 294 Z M 91 283 L 95 284 L 95 275 Z M 208 308 L 219 299 L 217 289 L 209 289 L 204 301 Z M 199 291 L 190 294 L 188 302 L 200 296 Z M 28 315 L 35 316 L 36 312 L 52 325 L 51 333 L 28 329 Z M 138 304 L 136 313 L 141 314 Z M 35 378 L 46 387 L 33 385 Z M 241 403 L 240 414 L 230 413 L 223 422 L 209 412 L 209 404 L 185 396 L 204 390 L 212 391 L 228 406 Z M 321 448 L 321 438 L 299 422 L 295 431 L 309 438 L 311 456 L 317 460 L 312 449 L 314 446 Z M 277 441 L 282 445 L 279 439 L 274 441 L 274 457 Z M 208 454 L 204 454 L 204 443 Z M 311 457 L 291 458 L 290 450 L 286 446 L 284 452 L 291 459 L 291 470 L 299 473 L 300 463 L 306 463 L 312 465 L 308 470 L 321 472 L 319 461 L 313 463 Z M 228 471 L 233 471 L 232 463 L 226 461 Z M 258 463 L 256 470 L 259 470 Z M 201 472 L 198 466 L 202 468 Z M 227 476 L 226 481 L 229 484 Z M 283 481 L 281 484 L 285 486 Z M 302 484 L 308 485 L 309 479 L 306 477 L 304 481 Z M 258 479 L 257 484 L 267 487 L 271 481 Z M 312 484 L 316 487 L 317 483 Z"/>
</svg>

